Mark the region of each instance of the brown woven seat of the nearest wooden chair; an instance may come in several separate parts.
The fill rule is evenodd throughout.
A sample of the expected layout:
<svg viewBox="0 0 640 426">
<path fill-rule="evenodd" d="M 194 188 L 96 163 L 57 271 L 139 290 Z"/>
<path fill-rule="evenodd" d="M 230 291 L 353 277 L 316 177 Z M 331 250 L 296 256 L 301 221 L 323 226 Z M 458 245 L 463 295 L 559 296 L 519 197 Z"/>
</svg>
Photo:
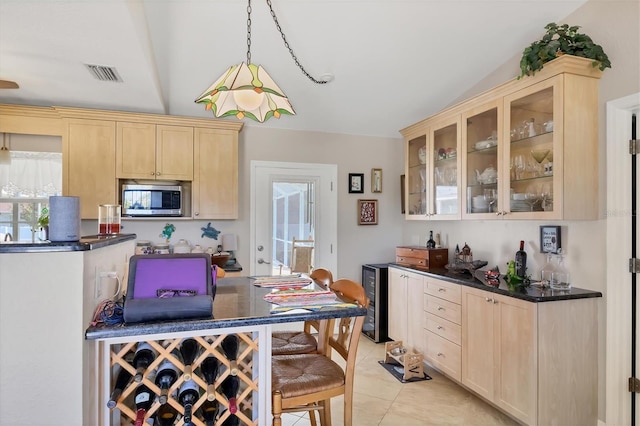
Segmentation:
<svg viewBox="0 0 640 426">
<path fill-rule="evenodd" d="M 293 398 L 344 385 L 344 371 L 324 355 L 274 356 L 271 360 L 271 390 Z"/>
</svg>

